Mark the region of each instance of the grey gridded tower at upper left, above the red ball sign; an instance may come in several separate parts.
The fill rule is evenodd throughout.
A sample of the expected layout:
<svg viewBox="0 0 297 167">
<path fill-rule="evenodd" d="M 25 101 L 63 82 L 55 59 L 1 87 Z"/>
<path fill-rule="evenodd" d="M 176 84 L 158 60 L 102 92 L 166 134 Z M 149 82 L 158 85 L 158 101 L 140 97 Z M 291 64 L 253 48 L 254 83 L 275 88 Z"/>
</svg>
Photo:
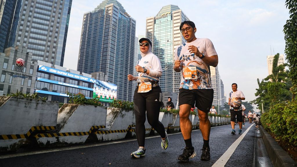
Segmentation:
<svg viewBox="0 0 297 167">
<path fill-rule="evenodd" d="M 7 2 L 19 7 L 18 0 Z M 63 66 L 71 4 L 72 0 L 22 0 L 20 12 L 13 9 L 19 19 L 11 18 L 17 28 L 8 30 L 12 42 L 5 47 L 21 45 L 33 53 L 32 60 Z"/>
</svg>

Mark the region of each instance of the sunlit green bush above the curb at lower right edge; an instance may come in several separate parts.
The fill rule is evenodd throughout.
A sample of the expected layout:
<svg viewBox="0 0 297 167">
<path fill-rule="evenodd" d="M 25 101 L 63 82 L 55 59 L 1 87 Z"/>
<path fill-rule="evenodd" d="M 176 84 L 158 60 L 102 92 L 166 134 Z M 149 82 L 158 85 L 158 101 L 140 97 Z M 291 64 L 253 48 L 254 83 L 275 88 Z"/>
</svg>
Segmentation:
<svg viewBox="0 0 297 167">
<path fill-rule="evenodd" d="M 271 107 L 261 116 L 263 127 L 276 140 L 289 141 L 297 146 L 297 100 L 285 101 Z"/>
</svg>

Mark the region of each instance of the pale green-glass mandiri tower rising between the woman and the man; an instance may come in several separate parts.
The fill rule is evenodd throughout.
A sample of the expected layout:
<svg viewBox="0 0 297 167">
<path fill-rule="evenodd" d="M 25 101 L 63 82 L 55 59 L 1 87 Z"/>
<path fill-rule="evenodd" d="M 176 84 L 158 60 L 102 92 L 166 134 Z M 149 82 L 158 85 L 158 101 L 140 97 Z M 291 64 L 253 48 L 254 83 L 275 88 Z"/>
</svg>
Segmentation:
<svg viewBox="0 0 297 167">
<path fill-rule="evenodd" d="M 163 75 L 162 92 L 178 92 L 181 74 L 173 70 L 174 49 L 186 42 L 179 30 L 189 18 L 176 5 L 167 5 L 156 16 L 146 18 L 146 37 L 152 41 L 152 52 L 160 59 Z"/>
</svg>

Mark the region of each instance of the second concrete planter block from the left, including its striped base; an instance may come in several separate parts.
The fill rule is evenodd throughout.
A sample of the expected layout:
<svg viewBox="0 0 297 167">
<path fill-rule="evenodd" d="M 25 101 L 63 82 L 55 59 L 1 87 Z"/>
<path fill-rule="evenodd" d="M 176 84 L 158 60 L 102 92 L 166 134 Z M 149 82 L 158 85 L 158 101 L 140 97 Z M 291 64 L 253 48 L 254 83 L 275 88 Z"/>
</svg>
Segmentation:
<svg viewBox="0 0 297 167">
<path fill-rule="evenodd" d="M 83 144 L 94 128 L 105 127 L 105 123 L 104 107 L 64 104 L 58 112 L 56 130 L 35 137 L 41 147 Z"/>
</svg>

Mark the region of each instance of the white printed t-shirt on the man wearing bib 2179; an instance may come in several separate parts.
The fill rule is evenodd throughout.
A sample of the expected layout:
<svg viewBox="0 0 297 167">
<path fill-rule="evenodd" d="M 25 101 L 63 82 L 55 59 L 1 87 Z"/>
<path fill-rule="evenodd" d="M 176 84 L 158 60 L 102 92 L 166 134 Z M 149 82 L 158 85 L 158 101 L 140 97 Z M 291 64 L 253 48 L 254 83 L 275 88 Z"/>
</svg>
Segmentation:
<svg viewBox="0 0 297 167">
<path fill-rule="evenodd" d="M 198 50 L 204 53 L 205 56 L 211 57 L 217 55 L 214 45 L 208 38 L 197 38 L 195 41 L 186 42 L 176 47 L 174 52 L 174 61 L 181 60 L 181 75 L 185 67 L 196 67 L 197 79 L 185 80 L 182 76 L 180 87 L 184 89 L 212 89 L 210 80 L 210 71 L 202 59 L 194 53 L 190 53 L 189 45 L 194 45 Z"/>
</svg>

